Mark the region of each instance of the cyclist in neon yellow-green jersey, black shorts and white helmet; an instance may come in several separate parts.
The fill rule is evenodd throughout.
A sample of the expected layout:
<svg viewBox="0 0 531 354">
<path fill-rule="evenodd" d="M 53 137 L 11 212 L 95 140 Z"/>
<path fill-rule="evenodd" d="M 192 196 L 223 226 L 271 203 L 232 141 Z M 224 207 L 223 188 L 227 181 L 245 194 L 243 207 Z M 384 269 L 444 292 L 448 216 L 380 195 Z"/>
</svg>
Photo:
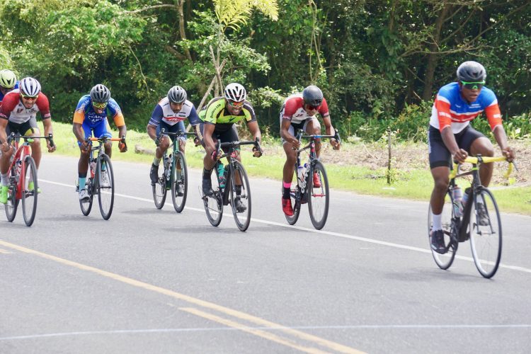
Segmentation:
<svg viewBox="0 0 531 354">
<path fill-rule="evenodd" d="M 202 171 L 202 193 L 212 194 L 212 182 L 210 175 L 217 160 L 217 150 L 215 142 L 237 142 L 239 141 L 238 131 L 234 123 L 244 120 L 253 135 L 253 139 L 262 139 L 260 127 L 256 121 L 253 106 L 246 101 L 247 93 L 241 84 L 228 84 L 225 87 L 224 96 L 212 98 L 212 100 L 199 113 L 201 143 L 205 147 L 207 154 L 203 159 Z M 253 154 L 256 157 L 262 156 L 260 149 L 253 147 Z M 236 156 L 241 161 L 241 156 Z M 236 181 L 238 182 L 238 181 Z M 241 182 L 240 182 L 241 183 Z M 241 184 L 236 185 L 236 195 L 241 194 Z M 245 205 L 238 200 L 236 210 L 243 212 Z"/>
</svg>

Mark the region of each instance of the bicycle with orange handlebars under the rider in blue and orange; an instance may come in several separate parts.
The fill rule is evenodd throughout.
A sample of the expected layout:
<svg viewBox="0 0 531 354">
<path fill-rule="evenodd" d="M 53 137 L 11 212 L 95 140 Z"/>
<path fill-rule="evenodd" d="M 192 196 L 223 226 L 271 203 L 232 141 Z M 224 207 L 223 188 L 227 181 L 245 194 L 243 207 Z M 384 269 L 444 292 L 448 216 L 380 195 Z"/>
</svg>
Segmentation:
<svg viewBox="0 0 531 354">
<path fill-rule="evenodd" d="M 114 205 L 114 173 L 113 165 L 110 164 L 110 157 L 105 154 L 103 149 L 106 142 L 122 142 L 125 144 L 125 137 L 110 138 L 110 137 L 88 137 L 85 142 L 91 145 L 91 152 L 89 158 L 90 177 L 86 179 L 86 191 L 89 194 L 89 200 L 79 200 L 81 212 L 85 216 L 89 216 L 92 210 L 92 202 L 94 195 L 98 195 L 98 203 L 103 219 L 108 220 L 113 213 Z M 94 146 L 92 142 L 99 144 Z M 103 173 L 107 176 L 107 181 L 101 183 Z M 76 192 L 79 192 L 79 185 L 77 185 Z"/>
</svg>

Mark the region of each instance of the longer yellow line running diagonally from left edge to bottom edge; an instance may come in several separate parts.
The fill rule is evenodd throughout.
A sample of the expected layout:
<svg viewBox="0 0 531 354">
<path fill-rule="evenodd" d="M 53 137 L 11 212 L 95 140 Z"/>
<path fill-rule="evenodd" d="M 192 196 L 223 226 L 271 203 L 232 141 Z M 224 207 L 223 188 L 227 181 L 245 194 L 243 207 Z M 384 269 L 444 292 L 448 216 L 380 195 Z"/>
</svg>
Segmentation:
<svg viewBox="0 0 531 354">
<path fill-rule="evenodd" d="M 213 309 L 213 310 L 215 310 L 217 312 L 222 312 L 223 314 L 227 314 L 229 316 L 234 316 L 234 317 L 237 317 L 239 319 L 244 319 L 244 320 L 252 322 L 254 324 L 259 324 L 261 326 L 271 327 L 271 328 L 274 328 L 277 331 L 282 331 L 284 333 L 290 334 L 291 336 L 295 336 L 297 338 L 301 338 L 304 341 L 309 341 L 309 342 L 312 342 L 312 343 L 316 343 L 319 346 L 323 346 L 325 348 L 329 348 L 331 350 L 335 350 L 336 352 L 339 352 L 339 353 L 363 353 L 363 352 L 360 352 L 357 349 L 350 348 L 348 346 L 343 346 L 342 344 L 335 343 L 333 341 L 328 341 L 328 340 L 326 340 L 324 338 L 320 338 L 318 336 L 313 336 L 312 334 L 304 333 L 302 331 L 297 331 L 296 329 L 290 329 L 290 328 L 281 326 L 280 324 L 275 324 L 275 323 L 273 323 L 271 321 L 267 321 L 265 319 L 261 319 L 260 317 L 253 316 L 251 314 L 246 314 L 244 312 L 239 312 L 239 311 L 234 310 L 234 309 L 229 309 L 228 307 L 223 307 L 221 305 L 214 304 L 212 302 L 207 302 L 207 301 L 204 301 L 204 300 L 201 300 L 201 299 L 197 299 L 195 297 L 190 297 L 188 295 L 184 295 L 184 294 L 181 294 L 179 292 L 174 292 L 173 290 L 165 289 L 164 287 L 158 287 L 156 285 L 148 284 L 147 282 L 141 282 L 139 280 L 135 280 L 135 279 L 132 279 L 132 278 L 127 278 L 127 277 L 124 277 L 122 275 L 118 275 L 118 274 L 115 274 L 115 273 L 110 273 L 110 272 L 108 272 L 106 270 L 101 270 L 101 269 L 98 269 L 98 268 L 94 268 L 94 267 L 91 267 L 90 265 L 84 265 L 84 264 L 77 263 L 77 262 L 74 262 L 74 261 L 69 261 L 69 260 L 64 259 L 64 258 L 59 258 L 57 256 L 52 256 L 52 255 L 47 254 L 47 253 L 42 253 L 42 252 L 39 252 L 39 251 L 35 251 L 33 249 L 27 249 L 27 248 L 25 248 L 23 246 L 18 246 L 16 244 L 11 244 L 11 243 L 3 241 L 3 240 L 0 240 L 0 245 L 8 247 L 10 249 L 16 249 L 17 251 L 21 251 L 21 252 L 24 252 L 24 253 L 30 253 L 30 254 L 33 254 L 35 256 L 46 258 L 46 259 L 49 259 L 50 261 L 55 261 L 57 263 L 62 263 L 62 264 L 65 264 L 65 265 L 69 265 L 69 266 L 72 266 L 74 268 L 78 268 L 78 269 L 81 269 L 81 270 L 87 270 L 89 272 L 96 273 L 98 275 L 102 275 L 102 276 L 104 276 L 106 278 L 118 280 L 119 282 L 125 282 L 126 284 L 129 284 L 129 285 L 132 285 L 132 286 L 135 286 L 135 287 L 141 287 L 142 289 L 145 289 L 145 290 L 151 290 L 153 292 L 158 292 L 159 294 L 163 294 L 163 295 L 166 295 L 166 296 L 169 296 L 169 297 L 173 297 L 175 299 L 180 299 L 180 300 L 183 300 L 185 302 L 190 302 L 190 304 L 195 304 L 197 306 L 205 307 L 207 309 Z"/>
</svg>

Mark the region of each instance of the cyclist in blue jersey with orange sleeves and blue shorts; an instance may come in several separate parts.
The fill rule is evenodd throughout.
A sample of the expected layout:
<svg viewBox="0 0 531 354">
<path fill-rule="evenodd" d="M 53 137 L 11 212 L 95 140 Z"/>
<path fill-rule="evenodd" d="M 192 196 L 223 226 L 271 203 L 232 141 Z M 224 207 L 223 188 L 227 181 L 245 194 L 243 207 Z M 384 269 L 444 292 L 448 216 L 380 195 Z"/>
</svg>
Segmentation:
<svg viewBox="0 0 531 354">
<path fill-rule="evenodd" d="M 110 97 L 109 89 L 103 84 L 97 84 L 91 89 L 89 95 L 82 96 L 77 103 L 76 111 L 74 112 L 74 125 L 72 131 L 76 135 L 77 144 L 81 151 L 79 162 L 77 164 L 77 172 L 79 174 L 79 200 L 89 200 L 89 193 L 86 191 L 86 173 L 89 169 L 90 157 L 90 142 L 86 139 L 92 137 L 112 137 L 107 131 L 107 116 L 113 117 L 116 127 L 118 127 L 118 135 L 125 139 L 127 128 L 122 115 L 122 110 L 116 101 Z M 120 152 L 127 151 L 127 145 L 123 142 L 118 144 Z M 112 152 L 112 143 L 105 142 L 105 154 L 110 158 Z M 109 184 L 107 173 L 101 174 L 101 185 Z"/>
</svg>

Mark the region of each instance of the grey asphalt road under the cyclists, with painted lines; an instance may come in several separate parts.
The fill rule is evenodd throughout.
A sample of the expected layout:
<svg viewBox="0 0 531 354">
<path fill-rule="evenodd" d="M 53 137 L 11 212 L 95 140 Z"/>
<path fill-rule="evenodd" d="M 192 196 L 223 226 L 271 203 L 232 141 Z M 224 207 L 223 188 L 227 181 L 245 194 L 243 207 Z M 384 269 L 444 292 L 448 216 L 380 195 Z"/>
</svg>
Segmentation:
<svg viewBox="0 0 531 354">
<path fill-rule="evenodd" d="M 531 217 L 502 215 L 491 280 L 468 244 L 450 270 L 428 249 L 428 202 L 331 190 L 290 227 L 280 183 L 251 178 L 253 219 L 156 210 L 149 166 L 116 161 L 110 220 L 84 217 L 77 159 L 47 155 L 37 218 L 0 217 L 0 353 L 528 353 Z M 244 161 L 252 164 L 252 161 Z M 333 186 L 332 186 L 333 187 Z"/>
</svg>

